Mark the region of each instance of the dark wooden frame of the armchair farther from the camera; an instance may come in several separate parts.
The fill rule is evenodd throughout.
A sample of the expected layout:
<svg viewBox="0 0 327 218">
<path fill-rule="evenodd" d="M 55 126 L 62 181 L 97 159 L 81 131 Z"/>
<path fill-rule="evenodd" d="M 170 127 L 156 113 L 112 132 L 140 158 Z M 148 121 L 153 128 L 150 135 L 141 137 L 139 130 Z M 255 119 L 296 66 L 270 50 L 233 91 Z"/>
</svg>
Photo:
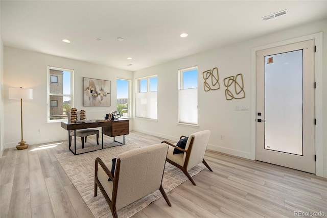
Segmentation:
<svg viewBox="0 0 327 218">
<path fill-rule="evenodd" d="M 182 138 L 186 138 L 187 136 L 180 136 L 179 140 L 182 139 Z M 169 144 L 170 146 L 174 147 L 175 149 L 178 149 L 179 151 L 182 151 L 184 153 L 186 153 L 186 158 L 185 158 L 185 161 L 184 161 L 184 165 L 181 166 L 177 163 L 175 163 L 174 161 L 171 161 L 170 159 L 166 158 L 166 161 L 173 164 L 174 166 L 178 167 L 179 169 L 181 169 L 181 171 L 185 174 L 186 177 L 189 178 L 189 180 L 192 182 L 193 185 L 196 185 L 194 180 L 192 179 L 192 177 L 190 176 L 189 172 L 187 171 L 187 168 L 188 168 L 188 163 L 189 163 L 189 159 L 190 159 L 190 154 L 192 152 L 192 147 L 193 147 L 193 141 L 194 141 L 194 137 L 191 138 L 191 142 L 190 142 L 190 145 L 189 145 L 189 148 L 188 150 L 185 150 L 185 149 L 182 149 L 182 148 L 179 148 L 177 146 L 175 146 L 175 144 L 172 144 L 168 141 L 162 141 L 161 143 L 166 143 L 166 144 Z M 207 164 L 207 162 L 204 160 L 202 160 L 202 163 L 209 169 L 209 171 L 213 172 L 213 170 L 211 169 L 211 167 Z"/>
</svg>

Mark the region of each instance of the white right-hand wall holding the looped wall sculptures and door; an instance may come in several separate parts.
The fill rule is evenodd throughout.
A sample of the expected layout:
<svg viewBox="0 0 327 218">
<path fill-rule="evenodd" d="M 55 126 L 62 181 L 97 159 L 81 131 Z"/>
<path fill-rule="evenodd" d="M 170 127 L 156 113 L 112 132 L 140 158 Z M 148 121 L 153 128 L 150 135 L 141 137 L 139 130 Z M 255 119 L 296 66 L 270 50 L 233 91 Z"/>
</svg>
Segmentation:
<svg viewBox="0 0 327 218">
<path fill-rule="evenodd" d="M 134 72 L 134 79 L 145 76 L 158 75 L 158 121 L 153 122 L 145 119 L 134 120 L 135 131 L 161 136 L 177 140 L 180 135 L 189 135 L 192 132 L 209 129 L 212 135 L 208 149 L 237 155 L 249 159 L 255 157 L 253 151 L 251 135 L 251 125 L 255 120 L 251 115 L 255 114 L 255 108 L 251 108 L 251 73 L 252 59 L 251 50 L 254 47 L 267 45 L 279 41 L 284 41 L 300 36 L 323 32 L 323 60 L 327 60 L 326 33 L 327 20 L 320 20 L 307 25 L 295 27 L 283 32 L 273 33 L 267 36 L 258 37 L 241 43 L 221 47 L 212 51 L 182 58 L 166 64 L 150 67 Z M 177 125 L 177 106 L 178 106 L 178 69 L 184 67 L 198 66 L 198 120 L 199 127 L 188 127 Z M 207 69 L 218 67 L 220 89 L 205 92 L 203 89 L 202 72 Z M 323 82 L 327 84 L 327 62 L 323 62 Z M 225 100 L 223 79 L 232 75 L 243 74 L 245 99 Z M 322 88 L 321 111 L 327 111 L 327 86 Z M 235 111 L 236 106 L 249 107 L 249 111 Z M 327 115 L 323 114 L 322 122 L 323 133 L 327 130 Z M 223 140 L 220 139 L 223 135 Z M 316 145 L 322 148 L 323 160 L 319 160 L 323 169 L 319 172 L 320 176 L 327 177 L 327 134 L 324 134 L 322 144 Z"/>
</svg>

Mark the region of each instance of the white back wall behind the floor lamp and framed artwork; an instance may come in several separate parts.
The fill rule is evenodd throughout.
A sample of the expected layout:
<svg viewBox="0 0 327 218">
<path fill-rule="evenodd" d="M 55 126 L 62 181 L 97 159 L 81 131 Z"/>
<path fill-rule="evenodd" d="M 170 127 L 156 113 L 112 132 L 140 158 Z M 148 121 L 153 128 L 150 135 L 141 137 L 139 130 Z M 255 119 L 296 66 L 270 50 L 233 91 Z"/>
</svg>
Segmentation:
<svg viewBox="0 0 327 218">
<path fill-rule="evenodd" d="M 61 123 L 47 123 L 47 67 L 74 69 L 74 107 L 86 110 L 88 119 L 104 118 L 116 110 L 117 77 L 132 79 L 132 72 L 61 58 L 52 55 L 4 47 L 4 123 L 5 147 L 15 147 L 20 136 L 20 101 L 8 99 L 9 87 L 33 89 L 33 100 L 23 100 L 24 140 L 29 144 L 67 139 Z M 83 107 L 83 77 L 111 81 L 110 107 Z M 3 111 L 3 110 L 2 110 Z M 132 126 L 132 120 L 130 120 Z M 40 132 L 38 132 L 40 130 Z"/>
</svg>

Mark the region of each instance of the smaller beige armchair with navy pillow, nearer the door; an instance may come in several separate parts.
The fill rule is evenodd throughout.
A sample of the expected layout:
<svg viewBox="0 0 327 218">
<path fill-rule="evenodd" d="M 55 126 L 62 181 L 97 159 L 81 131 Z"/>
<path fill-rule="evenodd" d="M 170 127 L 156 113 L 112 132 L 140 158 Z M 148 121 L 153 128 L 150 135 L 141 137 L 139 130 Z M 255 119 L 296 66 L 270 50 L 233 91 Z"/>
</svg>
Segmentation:
<svg viewBox="0 0 327 218">
<path fill-rule="evenodd" d="M 193 185 L 196 184 L 188 173 L 189 169 L 192 169 L 194 166 L 202 162 L 209 169 L 209 171 L 212 172 L 212 169 L 204 160 L 210 133 L 211 132 L 209 130 L 204 130 L 191 134 L 186 141 L 185 149 L 181 149 L 177 147 L 176 144 L 172 144 L 168 141 L 162 141 L 170 145 L 166 161 L 180 168 L 181 171 L 183 171 L 183 173 L 193 183 Z M 186 136 L 181 136 L 180 139 L 185 137 Z M 173 154 L 174 149 L 181 151 L 181 153 Z"/>
</svg>

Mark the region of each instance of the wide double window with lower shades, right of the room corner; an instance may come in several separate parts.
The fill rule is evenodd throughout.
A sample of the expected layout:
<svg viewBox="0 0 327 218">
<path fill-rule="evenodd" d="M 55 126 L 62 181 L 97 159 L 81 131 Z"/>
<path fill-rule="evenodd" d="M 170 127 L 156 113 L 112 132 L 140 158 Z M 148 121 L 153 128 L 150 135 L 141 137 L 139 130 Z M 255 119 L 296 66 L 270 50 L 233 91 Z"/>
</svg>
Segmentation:
<svg viewBox="0 0 327 218">
<path fill-rule="evenodd" d="M 157 119 L 157 76 L 136 80 L 135 116 Z"/>
</svg>

